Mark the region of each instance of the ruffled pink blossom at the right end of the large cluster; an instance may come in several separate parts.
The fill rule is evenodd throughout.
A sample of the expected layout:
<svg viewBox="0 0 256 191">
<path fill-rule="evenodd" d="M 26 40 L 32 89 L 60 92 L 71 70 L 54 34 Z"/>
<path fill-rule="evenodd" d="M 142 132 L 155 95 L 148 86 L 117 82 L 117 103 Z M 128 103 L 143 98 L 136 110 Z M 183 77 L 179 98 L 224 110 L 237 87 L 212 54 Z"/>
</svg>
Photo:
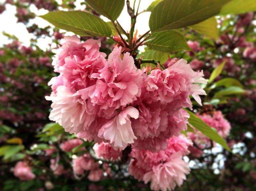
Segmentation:
<svg viewBox="0 0 256 191">
<path fill-rule="evenodd" d="M 192 103 L 189 95 L 192 95 L 200 105 L 202 104 L 198 95 L 206 95 L 200 85 L 194 84 L 206 84 L 203 76 L 203 71 L 193 71 L 187 61 L 180 59 L 163 71 L 152 70 L 146 79 L 147 90 L 152 92 L 152 97 L 156 100 L 163 103 L 183 102 L 180 107 L 191 109 Z"/>
</svg>

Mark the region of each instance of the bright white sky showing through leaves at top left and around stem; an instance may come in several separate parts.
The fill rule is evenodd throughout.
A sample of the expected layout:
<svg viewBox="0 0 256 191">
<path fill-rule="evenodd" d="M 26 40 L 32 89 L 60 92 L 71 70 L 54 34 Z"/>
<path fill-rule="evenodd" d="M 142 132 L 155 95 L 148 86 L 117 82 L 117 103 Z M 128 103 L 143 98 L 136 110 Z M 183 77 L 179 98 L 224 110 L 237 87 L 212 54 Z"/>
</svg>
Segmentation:
<svg viewBox="0 0 256 191">
<path fill-rule="evenodd" d="M 0 4 L 4 3 L 5 0 L 0 0 Z M 61 0 L 56 0 L 59 4 L 61 3 Z M 145 10 L 148 5 L 150 5 L 154 0 L 141 0 L 140 3 L 140 11 Z M 84 10 L 85 5 L 81 6 L 80 2 L 84 2 L 84 0 L 76 0 L 76 10 Z M 131 6 L 133 5 L 134 0 L 130 0 Z M 139 0 L 136 1 L 136 4 L 138 5 Z M 136 6 L 137 7 L 137 6 Z M 10 41 L 7 37 L 5 37 L 2 32 L 6 32 L 12 35 L 17 36 L 23 45 L 29 46 L 30 45 L 30 39 L 34 37 L 33 34 L 29 34 L 26 26 L 23 23 L 17 23 L 17 18 L 15 17 L 16 14 L 16 7 L 10 4 L 6 5 L 6 10 L 0 15 L 1 20 L 1 28 L 0 28 L 0 47 L 3 46 L 3 44 L 7 44 Z M 36 6 L 31 5 L 30 11 L 34 12 L 36 15 L 44 15 L 48 11 L 44 9 L 38 10 Z M 137 23 L 135 26 L 135 29 L 138 29 L 138 34 L 143 34 L 149 30 L 148 27 L 148 19 L 150 16 L 150 12 L 142 13 L 137 18 Z M 107 18 L 101 16 L 101 18 L 105 21 L 109 21 Z M 126 4 L 124 5 L 124 10 L 121 13 L 120 17 L 117 19 L 118 22 L 123 26 L 125 30 L 130 30 L 130 16 L 127 13 Z M 39 27 L 46 27 L 49 26 L 50 23 L 45 21 L 42 18 L 36 17 L 34 19 L 31 19 L 28 23 L 29 26 L 36 23 Z M 50 25 L 52 26 L 52 25 Z M 64 31 L 64 30 L 63 30 Z M 72 33 L 66 33 L 66 35 L 72 35 Z M 49 44 L 51 44 L 52 40 L 49 37 L 39 38 L 38 40 L 38 46 L 42 48 L 43 50 L 46 50 L 49 48 Z"/>
</svg>

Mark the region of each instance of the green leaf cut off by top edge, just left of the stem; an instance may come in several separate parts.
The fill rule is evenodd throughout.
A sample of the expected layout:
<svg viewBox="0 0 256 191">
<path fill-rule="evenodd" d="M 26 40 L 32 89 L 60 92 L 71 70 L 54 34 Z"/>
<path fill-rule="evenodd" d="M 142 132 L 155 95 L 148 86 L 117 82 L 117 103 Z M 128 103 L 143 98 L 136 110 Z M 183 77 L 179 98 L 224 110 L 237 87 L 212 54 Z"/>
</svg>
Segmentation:
<svg viewBox="0 0 256 191">
<path fill-rule="evenodd" d="M 124 8 L 124 0 L 86 0 L 92 9 L 115 21 Z"/>
</svg>

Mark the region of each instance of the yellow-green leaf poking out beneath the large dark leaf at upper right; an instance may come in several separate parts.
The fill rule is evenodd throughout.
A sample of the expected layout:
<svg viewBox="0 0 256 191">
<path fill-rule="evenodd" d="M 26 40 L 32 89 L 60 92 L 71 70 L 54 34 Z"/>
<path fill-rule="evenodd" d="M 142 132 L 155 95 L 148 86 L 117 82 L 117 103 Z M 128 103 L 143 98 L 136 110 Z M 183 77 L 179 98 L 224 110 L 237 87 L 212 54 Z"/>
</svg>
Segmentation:
<svg viewBox="0 0 256 191">
<path fill-rule="evenodd" d="M 189 26 L 198 33 L 204 34 L 207 37 L 217 40 L 219 37 L 219 29 L 217 28 L 217 21 L 215 17 L 208 18 L 196 25 Z"/>
</svg>

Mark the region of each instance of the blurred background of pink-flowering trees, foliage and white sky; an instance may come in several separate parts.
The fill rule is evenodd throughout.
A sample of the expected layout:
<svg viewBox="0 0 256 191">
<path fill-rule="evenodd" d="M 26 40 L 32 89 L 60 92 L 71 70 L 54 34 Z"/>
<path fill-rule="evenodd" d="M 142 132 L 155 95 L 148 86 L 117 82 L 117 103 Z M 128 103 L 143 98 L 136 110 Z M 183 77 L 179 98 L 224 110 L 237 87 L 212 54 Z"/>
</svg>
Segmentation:
<svg viewBox="0 0 256 191">
<path fill-rule="evenodd" d="M 133 1 L 130 1 L 133 4 Z M 139 11 L 153 0 L 143 0 Z M 0 187 L 3 190 L 149 190 L 128 174 L 127 165 L 114 164 L 106 170 L 100 182 L 76 177 L 72 159 L 77 151 L 63 152 L 60 144 L 75 138 L 48 119 L 50 102 L 44 97 L 51 88 L 47 85 L 56 74 L 51 65 L 60 41 L 71 32 L 54 28 L 36 15 L 54 10 L 85 10 L 98 15 L 83 0 L 1 0 L 0 1 Z M 150 12 L 138 17 L 138 35 L 149 30 Z M 189 28 L 181 32 L 194 52 L 180 51 L 168 55 L 184 58 L 194 70 L 204 70 L 206 78 L 223 61 L 224 69 L 215 82 L 227 77 L 236 78 L 243 91 L 231 92 L 213 99 L 222 87 L 209 92 L 204 107 L 194 112 L 220 110 L 231 124 L 226 138 L 234 154 L 220 145 L 201 148 L 200 156 L 184 158 L 191 173 L 177 190 L 253 190 L 256 188 L 256 18 L 255 13 L 216 17 L 219 38 L 211 40 Z M 125 30 L 130 29 L 126 6 L 118 18 Z M 81 37 L 86 40 L 91 37 Z M 100 51 L 109 53 L 114 42 L 101 38 Z M 144 52 L 144 48 L 140 48 Z M 167 60 L 168 57 L 165 57 Z M 50 123 L 50 124 L 49 124 Z M 91 143 L 85 144 L 92 146 Z M 49 153 L 48 153 L 49 152 Z M 62 156 L 61 158 L 59 156 Z M 31 161 L 36 178 L 21 181 L 13 175 L 17 161 Z M 59 159 L 58 159 L 59 158 Z M 54 160 L 52 160 L 54 159 Z M 56 160 L 60 160 L 55 168 Z M 102 165 L 102 161 L 99 161 Z M 53 165 L 53 167 L 51 166 Z M 58 172 L 56 172 L 58 171 Z M 105 177 L 105 178 L 104 178 Z"/>
</svg>

